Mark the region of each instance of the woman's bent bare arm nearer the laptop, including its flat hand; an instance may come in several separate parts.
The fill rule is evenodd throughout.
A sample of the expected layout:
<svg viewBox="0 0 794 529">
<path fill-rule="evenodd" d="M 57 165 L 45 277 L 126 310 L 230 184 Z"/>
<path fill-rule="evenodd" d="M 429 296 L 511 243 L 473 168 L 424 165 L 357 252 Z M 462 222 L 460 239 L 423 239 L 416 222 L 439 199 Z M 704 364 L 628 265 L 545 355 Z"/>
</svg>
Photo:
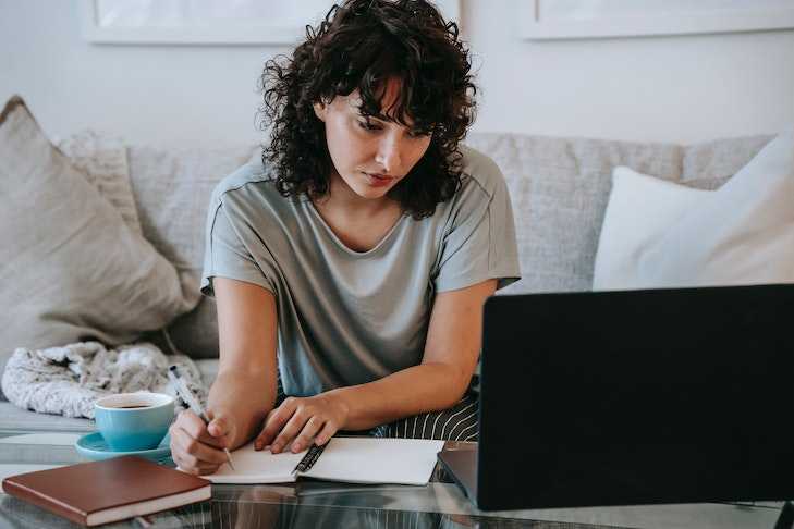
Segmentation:
<svg viewBox="0 0 794 529">
<path fill-rule="evenodd" d="M 465 393 L 482 342 L 482 307 L 497 280 L 436 296 L 422 364 L 375 382 L 340 387 L 307 398 L 289 398 L 273 410 L 257 438 L 293 452 L 314 440 L 323 444 L 337 430 L 365 430 L 378 425 L 445 409 Z M 272 443 L 271 443 L 272 440 Z"/>
</svg>

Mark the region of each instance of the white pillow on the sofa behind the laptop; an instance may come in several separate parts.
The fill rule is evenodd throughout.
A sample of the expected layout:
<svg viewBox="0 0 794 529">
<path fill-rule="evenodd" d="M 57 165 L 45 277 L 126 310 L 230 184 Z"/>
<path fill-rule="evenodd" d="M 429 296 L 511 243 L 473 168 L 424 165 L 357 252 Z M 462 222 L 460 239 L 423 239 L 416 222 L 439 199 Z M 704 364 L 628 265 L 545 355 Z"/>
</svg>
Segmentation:
<svg viewBox="0 0 794 529">
<path fill-rule="evenodd" d="M 794 282 L 794 128 L 725 185 L 615 168 L 594 290 Z"/>
</svg>

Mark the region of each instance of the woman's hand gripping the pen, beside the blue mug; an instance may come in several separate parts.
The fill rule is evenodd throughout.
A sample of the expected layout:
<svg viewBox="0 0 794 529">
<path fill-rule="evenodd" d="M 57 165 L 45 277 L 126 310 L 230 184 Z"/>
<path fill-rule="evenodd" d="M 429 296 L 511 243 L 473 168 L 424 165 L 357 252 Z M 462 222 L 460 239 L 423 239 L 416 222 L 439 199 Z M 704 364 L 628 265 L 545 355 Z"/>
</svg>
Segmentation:
<svg viewBox="0 0 794 529">
<path fill-rule="evenodd" d="M 233 421 L 213 417 L 209 425 L 186 409 L 171 425 L 171 457 L 181 470 L 194 475 L 213 473 L 228 462 L 224 446 L 234 438 Z"/>
</svg>

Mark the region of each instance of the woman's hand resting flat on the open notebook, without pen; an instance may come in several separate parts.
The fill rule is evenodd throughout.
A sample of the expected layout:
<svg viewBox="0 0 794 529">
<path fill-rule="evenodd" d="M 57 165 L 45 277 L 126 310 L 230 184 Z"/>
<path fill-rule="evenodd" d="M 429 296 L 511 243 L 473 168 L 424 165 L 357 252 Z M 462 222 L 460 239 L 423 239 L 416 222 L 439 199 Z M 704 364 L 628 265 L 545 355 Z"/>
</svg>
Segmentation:
<svg viewBox="0 0 794 529">
<path fill-rule="evenodd" d="M 346 418 L 346 407 L 328 393 L 286 397 L 281 406 L 268 414 L 254 447 L 262 450 L 270 445 L 270 452 L 278 454 L 290 443 L 293 453 L 308 448 L 313 442 L 322 445 L 344 426 Z"/>
</svg>

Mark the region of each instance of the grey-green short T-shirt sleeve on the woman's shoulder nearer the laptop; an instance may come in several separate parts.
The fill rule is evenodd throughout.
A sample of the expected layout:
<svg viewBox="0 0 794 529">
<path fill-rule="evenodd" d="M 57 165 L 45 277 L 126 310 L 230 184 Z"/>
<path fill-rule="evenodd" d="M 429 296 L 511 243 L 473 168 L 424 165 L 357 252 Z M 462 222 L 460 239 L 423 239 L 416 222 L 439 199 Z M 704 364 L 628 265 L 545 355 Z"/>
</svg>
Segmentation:
<svg viewBox="0 0 794 529">
<path fill-rule="evenodd" d="M 436 291 L 454 291 L 499 280 L 502 288 L 521 279 L 508 186 L 497 164 L 481 157 L 455 196 L 441 243 Z"/>
</svg>

